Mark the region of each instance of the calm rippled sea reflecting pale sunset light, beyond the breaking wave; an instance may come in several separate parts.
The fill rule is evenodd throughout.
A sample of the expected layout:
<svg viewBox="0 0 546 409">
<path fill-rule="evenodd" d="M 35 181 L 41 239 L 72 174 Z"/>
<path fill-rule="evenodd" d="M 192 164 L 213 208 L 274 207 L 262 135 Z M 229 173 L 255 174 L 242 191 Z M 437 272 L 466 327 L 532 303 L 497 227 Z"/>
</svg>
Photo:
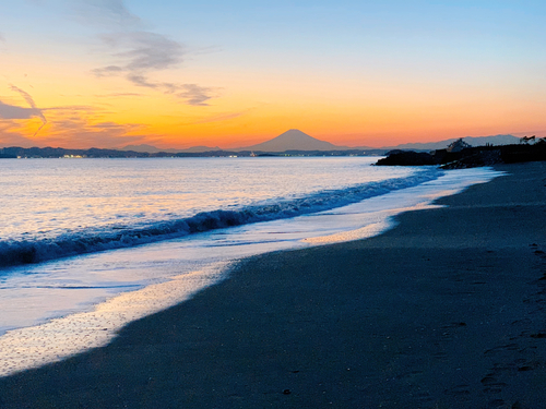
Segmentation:
<svg viewBox="0 0 546 409">
<path fill-rule="evenodd" d="M 2 240 L 146 227 L 415 173 L 371 158 L 2 160 Z M 275 217 L 275 216 L 273 216 Z"/>
</svg>

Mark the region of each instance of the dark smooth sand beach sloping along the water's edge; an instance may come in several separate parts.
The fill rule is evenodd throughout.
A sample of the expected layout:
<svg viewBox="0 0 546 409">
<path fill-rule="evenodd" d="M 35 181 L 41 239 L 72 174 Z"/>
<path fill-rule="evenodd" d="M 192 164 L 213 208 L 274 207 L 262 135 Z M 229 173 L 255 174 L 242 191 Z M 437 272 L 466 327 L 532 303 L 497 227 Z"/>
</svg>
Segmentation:
<svg viewBox="0 0 546 409">
<path fill-rule="evenodd" d="M 1 408 L 546 408 L 546 163 L 363 241 L 244 261 Z"/>
</svg>

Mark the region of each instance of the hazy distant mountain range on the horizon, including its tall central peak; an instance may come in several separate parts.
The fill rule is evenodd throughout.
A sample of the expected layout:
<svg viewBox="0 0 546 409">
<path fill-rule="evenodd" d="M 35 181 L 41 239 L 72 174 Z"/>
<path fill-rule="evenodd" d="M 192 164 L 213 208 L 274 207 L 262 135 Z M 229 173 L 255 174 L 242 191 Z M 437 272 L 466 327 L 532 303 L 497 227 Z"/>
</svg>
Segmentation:
<svg viewBox="0 0 546 409">
<path fill-rule="evenodd" d="M 230 149 L 222 149 L 218 146 L 193 146 L 188 149 L 161 149 L 152 145 L 128 145 L 121 151 L 132 151 L 140 153 L 151 153 L 155 154 L 158 152 L 166 153 L 204 153 L 204 152 L 216 152 L 216 151 L 230 151 L 230 152 L 268 152 L 268 153 L 281 153 L 286 151 L 391 151 L 391 149 L 412 149 L 412 151 L 435 151 L 446 148 L 449 144 L 456 141 L 458 139 L 443 140 L 439 142 L 428 142 L 428 143 L 408 143 L 396 146 L 383 146 L 383 147 L 369 147 L 369 146 L 339 146 L 330 142 L 320 141 L 312 137 L 299 130 L 292 129 L 282 133 L 281 135 L 265 141 L 263 143 L 239 147 Z M 520 139 L 513 135 L 492 135 L 492 136 L 466 136 L 463 139 L 464 142 L 472 146 L 485 146 L 490 145 L 511 145 L 518 144 Z"/>
</svg>

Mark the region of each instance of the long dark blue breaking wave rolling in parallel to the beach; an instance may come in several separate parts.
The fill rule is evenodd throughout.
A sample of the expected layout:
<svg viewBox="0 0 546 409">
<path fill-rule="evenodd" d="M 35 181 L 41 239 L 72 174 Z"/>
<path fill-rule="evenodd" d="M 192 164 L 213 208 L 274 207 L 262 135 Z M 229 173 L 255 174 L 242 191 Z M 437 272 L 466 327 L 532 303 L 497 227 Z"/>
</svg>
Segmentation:
<svg viewBox="0 0 546 409">
<path fill-rule="evenodd" d="M 203 212 L 187 218 L 144 226 L 111 225 L 100 229 L 66 232 L 54 238 L 0 241 L 0 267 L 40 263 L 78 254 L 129 248 L 233 226 L 275 220 L 329 210 L 389 192 L 438 179 L 443 172 L 426 168 L 408 178 L 390 179 L 325 190 L 305 197 L 278 199 L 236 209 Z"/>
</svg>

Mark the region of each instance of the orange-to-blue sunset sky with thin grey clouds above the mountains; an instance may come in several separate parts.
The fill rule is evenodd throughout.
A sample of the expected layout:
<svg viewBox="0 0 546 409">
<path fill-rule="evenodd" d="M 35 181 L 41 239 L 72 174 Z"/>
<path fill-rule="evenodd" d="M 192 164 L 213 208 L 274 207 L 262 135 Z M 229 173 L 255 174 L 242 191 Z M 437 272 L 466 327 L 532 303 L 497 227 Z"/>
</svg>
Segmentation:
<svg viewBox="0 0 546 409">
<path fill-rule="evenodd" d="M 546 135 L 546 2 L 0 0 L 0 146 Z"/>
</svg>

